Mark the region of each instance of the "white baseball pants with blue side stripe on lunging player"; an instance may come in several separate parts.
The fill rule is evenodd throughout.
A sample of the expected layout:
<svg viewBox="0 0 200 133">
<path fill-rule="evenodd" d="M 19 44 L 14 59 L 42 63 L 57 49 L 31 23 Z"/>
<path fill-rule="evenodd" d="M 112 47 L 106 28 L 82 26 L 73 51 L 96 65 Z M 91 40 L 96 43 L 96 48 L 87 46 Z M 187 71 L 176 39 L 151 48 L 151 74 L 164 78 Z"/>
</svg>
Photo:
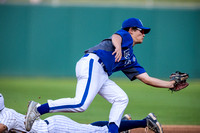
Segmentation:
<svg viewBox="0 0 200 133">
<path fill-rule="evenodd" d="M 128 96 L 108 78 L 96 54 L 82 57 L 76 64 L 76 95 L 74 98 L 48 100 L 50 112 L 83 112 L 97 94 L 112 104 L 109 122 L 120 125 L 121 117 L 128 104 Z"/>
</svg>

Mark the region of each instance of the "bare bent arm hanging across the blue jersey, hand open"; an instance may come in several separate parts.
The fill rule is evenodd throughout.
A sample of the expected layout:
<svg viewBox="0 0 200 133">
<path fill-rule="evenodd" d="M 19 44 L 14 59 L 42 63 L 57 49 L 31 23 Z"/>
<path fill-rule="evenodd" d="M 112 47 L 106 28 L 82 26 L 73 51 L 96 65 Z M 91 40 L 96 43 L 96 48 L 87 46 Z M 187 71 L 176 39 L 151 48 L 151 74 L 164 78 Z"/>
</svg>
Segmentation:
<svg viewBox="0 0 200 133">
<path fill-rule="evenodd" d="M 119 62 L 122 58 L 122 48 L 121 48 L 121 43 L 122 43 L 122 37 L 118 34 L 113 34 L 112 35 L 112 43 L 115 47 L 115 51 L 112 53 L 112 55 L 115 55 L 115 62 Z"/>
</svg>

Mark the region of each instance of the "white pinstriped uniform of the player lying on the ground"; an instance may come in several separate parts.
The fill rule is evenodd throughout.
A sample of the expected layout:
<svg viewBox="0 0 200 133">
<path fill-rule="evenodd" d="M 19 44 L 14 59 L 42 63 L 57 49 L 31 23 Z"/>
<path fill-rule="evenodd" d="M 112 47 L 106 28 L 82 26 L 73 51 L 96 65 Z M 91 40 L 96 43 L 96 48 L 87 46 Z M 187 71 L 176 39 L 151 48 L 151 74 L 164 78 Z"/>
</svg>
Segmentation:
<svg viewBox="0 0 200 133">
<path fill-rule="evenodd" d="M 12 130 L 16 133 L 27 132 L 24 121 L 25 115 L 13 109 L 4 108 L 0 111 L 0 123 L 6 125 L 8 131 Z M 107 126 L 98 127 L 80 124 L 68 117 L 55 115 L 45 120 L 36 120 L 29 133 L 108 133 L 108 128 Z"/>
</svg>

